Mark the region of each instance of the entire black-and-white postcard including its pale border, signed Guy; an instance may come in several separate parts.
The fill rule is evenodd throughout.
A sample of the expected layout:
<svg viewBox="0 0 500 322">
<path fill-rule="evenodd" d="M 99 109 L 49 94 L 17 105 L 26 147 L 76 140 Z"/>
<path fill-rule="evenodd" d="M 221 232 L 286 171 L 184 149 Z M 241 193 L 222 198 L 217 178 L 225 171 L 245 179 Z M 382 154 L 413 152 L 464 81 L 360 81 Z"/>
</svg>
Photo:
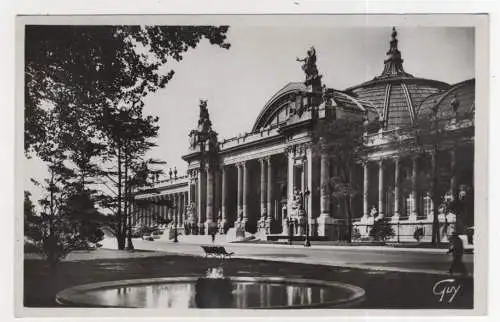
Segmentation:
<svg viewBox="0 0 500 322">
<path fill-rule="evenodd" d="M 462 16 L 18 17 L 18 307 L 477 315 Z"/>
</svg>

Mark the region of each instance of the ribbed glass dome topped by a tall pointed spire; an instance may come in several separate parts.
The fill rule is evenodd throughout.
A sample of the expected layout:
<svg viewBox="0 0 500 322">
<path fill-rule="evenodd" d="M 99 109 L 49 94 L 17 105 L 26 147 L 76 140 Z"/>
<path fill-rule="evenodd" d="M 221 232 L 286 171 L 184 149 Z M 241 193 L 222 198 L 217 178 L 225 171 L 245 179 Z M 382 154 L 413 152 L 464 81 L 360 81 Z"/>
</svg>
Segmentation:
<svg viewBox="0 0 500 322">
<path fill-rule="evenodd" d="M 410 126 L 417 115 L 416 109 L 427 97 L 450 87 L 443 82 L 406 73 L 396 37 L 393 28 L 382 74 L 345 90 L 358 100 L 370 102 L 377 109 L 385 129 Z"/>
</svg>

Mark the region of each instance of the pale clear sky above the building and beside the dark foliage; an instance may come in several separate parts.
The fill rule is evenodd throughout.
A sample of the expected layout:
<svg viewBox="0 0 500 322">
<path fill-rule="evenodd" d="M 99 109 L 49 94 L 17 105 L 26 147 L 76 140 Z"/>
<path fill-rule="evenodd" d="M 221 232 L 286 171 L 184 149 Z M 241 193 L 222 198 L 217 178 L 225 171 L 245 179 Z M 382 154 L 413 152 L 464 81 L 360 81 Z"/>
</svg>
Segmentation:
<svg viewBox="0 0 500 322">
<path fill-rule="evenodd" d="M 454 84 L 475 75 L 474 29 L 397 27 L 404 69 L 415 77 Z M 301 63 L 314 46 L 319 73 L 330 88 L 346 89 L 380 75 L 392 26 L 385 28 L 230 27 L 229 50 L 202 41 L 185 54 L 166 88 L 145 99 L 144 111 L 159 116 L 158 146 L 150 156 L 166 161 L 166 172 L 187 164 L 189 132 L 198 121 L 199 100 L 208 111 L 219 140 L 250 132 L 266 102 L 289 82 L 304 80 Z M 35 192 L 29 177 L 40 178 L 36 158 L 26 160 L 25 189 Z M 36 198 L 35 198 L 36 199 Z"/>
</svg>

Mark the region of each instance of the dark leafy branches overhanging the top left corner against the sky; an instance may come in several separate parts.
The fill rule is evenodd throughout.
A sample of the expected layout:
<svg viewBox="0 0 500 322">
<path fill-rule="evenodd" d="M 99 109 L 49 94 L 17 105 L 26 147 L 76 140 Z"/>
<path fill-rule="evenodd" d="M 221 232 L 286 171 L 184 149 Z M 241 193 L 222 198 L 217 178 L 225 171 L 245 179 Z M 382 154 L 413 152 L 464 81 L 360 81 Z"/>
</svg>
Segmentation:
<svg viewBox="0 0 500 322">
<path fill-rule="evenodd" d="M 165 70 L 202 39 L 229 48 L 227 26 L 26 26 L 25 151 L 46 139 L 45 102 L 71 101 L 81 120 L 163 88 Z"/>
</svg>

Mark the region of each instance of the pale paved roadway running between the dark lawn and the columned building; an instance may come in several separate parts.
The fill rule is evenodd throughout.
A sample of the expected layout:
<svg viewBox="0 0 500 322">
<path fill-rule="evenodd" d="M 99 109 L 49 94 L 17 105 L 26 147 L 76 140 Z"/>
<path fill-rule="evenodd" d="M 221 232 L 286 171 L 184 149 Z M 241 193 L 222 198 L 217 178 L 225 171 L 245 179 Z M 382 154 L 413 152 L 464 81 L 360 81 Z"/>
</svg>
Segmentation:
<svg viewBox="0 0 500 322">
<path fill-rule="evenodd" d="M 168 252 L 181 255 L 204 256 L 201 245 L 211 243 L 210 236 L 198 236 L 178 243 L 158 239 L 155 241 L 134 240 L 136 249 Z M 203 241 L 204 237 L 206 242 Z M 320 264 L 329 266 L 361 268 L 381 271 L 400 271 L 410 273 L 427 273 L 448 275 L 451 256 L 446 249 L 395 249 L 383 246 L 311 246 L 276 245 L 276 244 L 243 244 L 225 243 L 235 258 L 257 259 L 266 261 L 293 262 L 304 264 Z M 103 247 L 116 249 L 115 240 L 105 239 Z M 473 255 L 465 254 L 464 262 L 467 270 L 473 272 Z"/>
</svg>

